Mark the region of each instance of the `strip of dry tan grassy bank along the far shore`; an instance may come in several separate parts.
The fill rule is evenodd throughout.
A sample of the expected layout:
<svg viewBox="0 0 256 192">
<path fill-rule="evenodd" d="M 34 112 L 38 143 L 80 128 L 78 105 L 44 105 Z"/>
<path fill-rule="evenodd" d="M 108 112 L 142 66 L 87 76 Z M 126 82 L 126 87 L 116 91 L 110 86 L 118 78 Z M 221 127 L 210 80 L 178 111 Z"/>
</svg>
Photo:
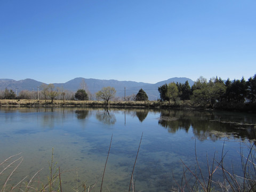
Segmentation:
<svg viewBox="0 0 256 192">
<path fill-rule="evenodd" d="M 191 100 L 185 101 L 75 101 L 75 100 L 36 100 L 36 99 L 2 99 L 2 107 L 141 107 L 141 108 L 164 108 L 164 109 L 210 109 L 208 105 L 198 105 Z M 256 103 L 226 103 L 218 102 L 215 110 L 243 111 L 256 113 Z"/>
</svg>

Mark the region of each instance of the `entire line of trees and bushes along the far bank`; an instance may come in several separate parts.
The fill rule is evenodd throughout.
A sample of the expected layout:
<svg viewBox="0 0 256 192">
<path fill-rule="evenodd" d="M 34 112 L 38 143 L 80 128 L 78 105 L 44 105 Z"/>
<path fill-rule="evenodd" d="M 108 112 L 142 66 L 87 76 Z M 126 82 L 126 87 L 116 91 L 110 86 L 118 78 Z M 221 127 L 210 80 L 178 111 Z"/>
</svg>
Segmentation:
<svg viewBox="0 0 256 192">
<path fill-rule="evenodd" d="M 86 83 L 81 82 L 81 89 L 75 93 L 54 87 L 53 84 L 42 84 L 40 91 L 22 90 L 19 95 L 16 95 L 13 90 L 0 91 L 0 99 L 44 99 L 46 100 L 103 100 L 108 102 L 114 101 L 148 101 L 148 95 L 140 89 L 137 94 L 127 95 L 125 98 L 116 98 L 116 90 L 114 87 L 102 87 L 102 89 L 95 94 L 90 93 L 86 88 Z M 245 81 L 242 79 L 234 79 L 230 81 L 228 78 L 223 81 L 221 78 L 215 77 L 207 81 L 203 76 L 199 77 L 197 81 L 190 87 L 188 81 L 185 83 L 169 83 L 158 87 L 159 99 L 158 101 L 174 102 L 191 100 L 194 103 L 207 105 L 213 108 L 218 102 L 255 102 L 256 98 L 256 74 Z"/>
</svg>

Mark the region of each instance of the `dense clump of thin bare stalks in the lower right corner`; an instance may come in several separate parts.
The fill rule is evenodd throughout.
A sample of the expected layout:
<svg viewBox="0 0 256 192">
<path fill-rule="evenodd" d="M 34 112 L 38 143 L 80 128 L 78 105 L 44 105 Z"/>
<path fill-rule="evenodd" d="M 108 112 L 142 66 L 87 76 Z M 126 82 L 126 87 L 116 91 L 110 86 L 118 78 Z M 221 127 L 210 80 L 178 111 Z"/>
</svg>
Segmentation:
<svg viewBox="0 0 256 192">
<path fill-rule="evenodd" d="M 181 185 L 175 180 L 176 185 L 178 186 L 177 189 L 173 189 L 171 191 L 233 191 L 233 192 L 253 192 L 256 191 L 256 149 L 255 143 L 248 147 L 248 155 L 243 155 L 242 146 L 240 147 L 240 156 L 241 156 L 241 167 L 243 170 L 243 175 L 239 176 L 235 174 L 234 167 L 232 165 L 231 172 L 227 170 L 225 165 L 223 164 L 224 158 L 227 153 L 224 154 L 224 145 L 222 147 L 222 153 L 220 157 L 220 161 L 218 162 L 215 158 L 215 153 L 213 156 L 213 160 L 211 165 L 209 165 L 208 157 L 206 155 L 207 161 L 207 170 L 208 173 L 204 174 L 202 171 L 201 166 L 199 165 L 197 159 L 197 152 L 196 152 L 196 142 L 195 142 L 195 158 L 196 158 L 196 168 L 195 171 L 192 171 L 190 167 L 188 167 L 182 160 L 183 164 L 183 175 L 181 180 Z M 199 173 L 197 173 L 197 170 Z M 223 180 L 214 180 L 213 175 L 218 170 L 222 173 Z M 190 179 L 188 180 L 187 172 L 191 174 Z M 194 184 L 191 186 L 189 181 L 194 179 Z M 182 184 L 183 180 L 185 183 Z M 215 184 L 213 186 L 213 184 Z"/>
</svg>

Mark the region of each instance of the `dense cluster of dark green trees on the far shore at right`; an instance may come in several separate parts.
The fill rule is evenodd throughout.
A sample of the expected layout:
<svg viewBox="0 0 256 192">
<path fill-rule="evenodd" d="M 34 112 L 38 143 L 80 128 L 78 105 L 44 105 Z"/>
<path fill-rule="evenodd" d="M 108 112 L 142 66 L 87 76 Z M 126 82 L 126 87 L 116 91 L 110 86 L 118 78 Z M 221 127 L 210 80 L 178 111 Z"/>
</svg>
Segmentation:
<svg viewBox="0 0 256 192">
<path fill-rule="evenodd" d="M 161 101 L 193 100 L 200 105 L 214 107 L 218 102 L 255 102 L 256 98 L 256 74 L 248 81 L 234 79 L 223 81 L 221 78 L 199 77 L 195 84 L 190 87 L 188 82 L 169 83 L 158 87 Z"/>
</svg>

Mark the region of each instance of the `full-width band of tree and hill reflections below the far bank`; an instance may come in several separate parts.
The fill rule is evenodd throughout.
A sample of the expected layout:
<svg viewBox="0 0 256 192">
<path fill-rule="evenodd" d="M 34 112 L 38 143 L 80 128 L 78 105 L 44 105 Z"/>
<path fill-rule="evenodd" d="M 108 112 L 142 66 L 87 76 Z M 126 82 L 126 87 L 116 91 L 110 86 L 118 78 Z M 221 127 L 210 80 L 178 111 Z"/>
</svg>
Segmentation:
<svg viewBox="0 0 256 192">
<path fill-rule="evenodd" d="M 114 125 L 117 121 L 115 114 L 138 117 L 144 123 L 148 114 L 156 114 L 158 125 L 167 132 L 176 133 L 184 130 L 191 131 L 198 140 L 210 139 L 216 141 L 222 138 L 256 139 L 256 118 L 254 114 L 231 113 L 227 111 L 189 111 L 189 110 L 160 110 L 160 109 L 116 109 L 116 108 L 16 108 L 1 107 L 1 116 L 6 123 L 26 121 L 38 122 L 38 126 L 54 129 L 63 124 L 75 114 L 77 119 L 90 119 L 94 116 L 98 121 Z M 122 113 L 123 112 L 123 113 Z M 13 115 L 13 114 L 16 115 Z M 118 115 L 119 118 L 120 115 Z M 142 124 L 143 126 L 143 124 Z"/>
</svg>

